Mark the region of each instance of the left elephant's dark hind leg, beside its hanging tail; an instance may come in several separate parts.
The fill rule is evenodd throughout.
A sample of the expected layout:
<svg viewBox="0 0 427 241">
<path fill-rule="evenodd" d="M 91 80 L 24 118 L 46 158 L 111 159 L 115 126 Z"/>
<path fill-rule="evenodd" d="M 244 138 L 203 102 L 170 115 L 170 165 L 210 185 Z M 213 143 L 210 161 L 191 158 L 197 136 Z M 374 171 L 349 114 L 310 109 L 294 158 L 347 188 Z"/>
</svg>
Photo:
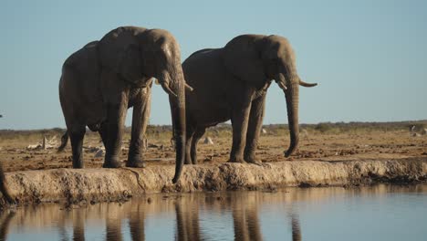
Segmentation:
<svg viewBox="0 0 427 241">
<path fill-rule="evenodd" d="M 83 139 L 86 133 L 86 126 L 80 125 L 68 129 L 69 140 L 71 141 L 71 149 L 73 152 L 73 168 L 83 168 Z"/>
</svg>

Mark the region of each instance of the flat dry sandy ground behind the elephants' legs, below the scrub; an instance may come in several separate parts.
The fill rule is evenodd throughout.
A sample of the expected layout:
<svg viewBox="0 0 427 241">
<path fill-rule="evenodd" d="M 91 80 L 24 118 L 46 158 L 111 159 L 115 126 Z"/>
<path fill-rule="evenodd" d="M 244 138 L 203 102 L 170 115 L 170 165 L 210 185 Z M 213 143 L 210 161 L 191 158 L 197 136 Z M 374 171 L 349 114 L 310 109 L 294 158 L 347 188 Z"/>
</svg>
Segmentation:
<svg viewBox="0 0 427 241">
<path fill-rule="evenodd" d="M 206 136 L 213 144 L 204 144 Z M 149 165 L 172 165 L 174 150 L 169 135 L 148 136 L 148 148 L 145 158 Z M 60 137 L 57 136 L 57 139 Z M 0 140 L 0 161 L 5 172 L 26 170 L 47 170 L 71 168 L 71 148 L 57 153 L 56 149 L 28 150 L 30 144 L 42 140 L 42 135 L 30 138 Z M 127 159 L 129 136 L 123 141 L 122 162 Z M 219 136 L 208 131 L 198 145 L 199 163 L 227 162 L 231 149 L 230 133 Z M 288 146 L 286 134 L 266 133 L 260 138 L 257 156 L 263 162 L 297 162 L 311 161 L 358 161 L 358 160 L 398 160 L 407 158 L 427 159 L 427 135 L 412 136 L 409 131 L 355 131 L 343 133 L 303 133 L 298 151 L 290 158 L 283 152 Z M 89 133 L 84 143 L 84 160 L 87 168 L 100 168 L 103 157 L 95 157 L 102 148 L 98 133 Z"/>
</svg>

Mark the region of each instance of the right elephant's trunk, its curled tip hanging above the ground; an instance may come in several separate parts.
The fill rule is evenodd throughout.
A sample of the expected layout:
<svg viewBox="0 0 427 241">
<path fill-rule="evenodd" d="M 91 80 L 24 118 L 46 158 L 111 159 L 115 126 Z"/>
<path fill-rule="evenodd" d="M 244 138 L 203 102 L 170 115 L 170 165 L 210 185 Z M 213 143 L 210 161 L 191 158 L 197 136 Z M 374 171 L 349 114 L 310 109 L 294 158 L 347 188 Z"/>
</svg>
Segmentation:
<svg viewBox="0 0 427 241">
<path fill-rule="evenodd" d="M 288 157 L 297 150 L 299 142 L 299 126 L 298 126 L 298 104 L 299 104 L 299 78 L 297 74 L 289 77 L 290 81 L 286 82 L 285 76 L 282 73 L 278 74 L 277 83 L 285 92 L 287 122 L 290 135 L 290 145 L 285 156 Z"/>
</svg>

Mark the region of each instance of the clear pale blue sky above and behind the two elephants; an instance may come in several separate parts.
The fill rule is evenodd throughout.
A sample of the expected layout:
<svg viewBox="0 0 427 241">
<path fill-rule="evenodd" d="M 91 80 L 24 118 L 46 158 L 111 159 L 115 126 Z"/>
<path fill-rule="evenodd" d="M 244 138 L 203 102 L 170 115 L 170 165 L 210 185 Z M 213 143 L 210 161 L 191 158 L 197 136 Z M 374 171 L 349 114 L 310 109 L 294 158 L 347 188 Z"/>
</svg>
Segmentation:
<svg viewBox="0 0 427 241">
<path fill-rule="evenodd" d="M 2 1 L 0 129 L 65 127 L 57 93 L 64 60 L 128 25 L 168 29 L 182 61 L 240 34 L 287 37 L 301 78 L 319 83 L 300 91 L 301 123 L 427 119 L 427 1 L 166 2 Z M 268 91 L 264 123 L 286 123 L 283 93 Z M 170 123 L 156 86 L 151 124 Z"/>
</svg>

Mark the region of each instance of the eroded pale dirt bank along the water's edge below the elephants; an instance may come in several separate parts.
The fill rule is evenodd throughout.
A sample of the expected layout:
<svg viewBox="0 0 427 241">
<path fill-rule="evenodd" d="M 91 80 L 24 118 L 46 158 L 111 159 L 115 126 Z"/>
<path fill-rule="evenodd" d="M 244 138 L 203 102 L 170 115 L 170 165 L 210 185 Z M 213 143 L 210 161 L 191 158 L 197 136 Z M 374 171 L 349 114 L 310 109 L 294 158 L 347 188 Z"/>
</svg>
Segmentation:
<svg viewBox="0 0 427 241">
<path fill-rule="evenodd" d="M 418 183 L 427 181 L 427 158 L 390 161 L 271 162 L 185 166 L 173 185 L 173 166 L 145 169 L 51 169 L 5 173 L 20 204 L 120 201 L 160 192 L 276 189 L 286 186 Z M 3 198 L 3 197 L 2 197 Z M 5 200 L 1 200 L 5 204 Z"/>
</svg>

